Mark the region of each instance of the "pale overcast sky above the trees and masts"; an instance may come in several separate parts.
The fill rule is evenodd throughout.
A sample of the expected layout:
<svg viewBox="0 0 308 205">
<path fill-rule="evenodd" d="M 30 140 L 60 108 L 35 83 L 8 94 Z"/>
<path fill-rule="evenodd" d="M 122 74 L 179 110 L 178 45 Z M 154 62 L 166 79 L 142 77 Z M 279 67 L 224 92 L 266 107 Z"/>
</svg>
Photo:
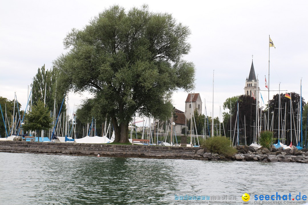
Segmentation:
<svg viewBox="0 0 308 205">
<path fill-rule="evenodd" d="M 252 54 L 259 87 L 268 78 L 269 35 L 270 89 L 300 93 L 308 100 L 307 20 L 308 1 L 2 1 L 0 7 L 0 96 L 17 99 L 25 109 L 31 78 L 63 49 L 63 39 L 72 29 L 81 29 L 91 18 L 112 4 L 127 10 L 148 4 L 154 12 L 168 12 L 189 26 L 191 52 L 185 56 L 196 66 L 196 89 L 207 113 L 212 110 L 214 71 L 214 115 L 228 98 L 244 94 Z M 270 95 L 278 93 L 271 92 Z M 188 93 L 173 95 L 174 106 L 184 111 Z M 267 101 L 268 94 L 261 92 Z M 71 112 L 84 96 L 69 94 Z M 204 104 L 203 104 L 204 112 Z"/>
</svg>

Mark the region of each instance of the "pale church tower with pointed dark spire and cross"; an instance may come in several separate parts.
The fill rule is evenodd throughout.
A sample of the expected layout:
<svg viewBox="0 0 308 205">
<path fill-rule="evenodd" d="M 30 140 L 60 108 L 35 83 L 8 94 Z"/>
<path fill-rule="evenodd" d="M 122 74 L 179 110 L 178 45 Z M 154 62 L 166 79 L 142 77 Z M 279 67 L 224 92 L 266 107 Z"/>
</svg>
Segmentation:
<svg viewBox="0 0 308 205">
<path fill-rule="evenodd" d="M 259 99 L 259 80 L 256 78 L 256 73 L 254 72 L 253 61 L 251 63 L 249 77 L 246 77 L 244 90 L 245 95 L 254 96 L 257 100 Z"/>
</svg>

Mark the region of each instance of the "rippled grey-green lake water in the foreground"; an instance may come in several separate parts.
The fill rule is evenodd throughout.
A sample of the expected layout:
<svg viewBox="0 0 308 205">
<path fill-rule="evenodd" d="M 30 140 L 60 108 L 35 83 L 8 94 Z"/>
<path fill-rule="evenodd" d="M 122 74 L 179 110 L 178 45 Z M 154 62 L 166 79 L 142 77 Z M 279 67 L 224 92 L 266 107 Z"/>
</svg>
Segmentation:
<svg viewBox="0 0 308 205">
<path fill-rule="evenodd" d="M 299 163 L 0 152 L 0 204 L 243 204 L 244 193 L 262 204 L 253 196 L 308 195 L 307 175 Z M 180 200 L 186 195 L 205 199 Z"/>
</svg>

